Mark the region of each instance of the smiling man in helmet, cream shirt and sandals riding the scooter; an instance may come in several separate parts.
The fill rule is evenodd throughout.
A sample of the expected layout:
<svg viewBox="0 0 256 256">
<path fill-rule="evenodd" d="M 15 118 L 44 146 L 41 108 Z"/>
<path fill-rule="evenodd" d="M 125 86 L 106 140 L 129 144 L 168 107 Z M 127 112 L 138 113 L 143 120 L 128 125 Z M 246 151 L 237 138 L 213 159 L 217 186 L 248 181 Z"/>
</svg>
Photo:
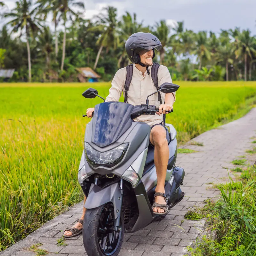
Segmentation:
<svg viewBox="0 0 256 256">
<path fill-rule="evenodd" d="M 145 104 L 147 96 L 156 91 L 151 76 L 151 68 L 153 58 L 155 57 L 155 49 L 160 50 L 161 48 L 161 42 L 156 36 L 150 33 L 139 32 L 130 36 L 125 44 L 127 55 L 133 63 L 132 80 L 129 90 L 125 90 L 124 86 L 126 83 L 127 69 L 121 68 L 116 72 L 113 78 L 106 101 L 118 101 L 123 92 L 125 102 L 132 105 Z M 159 66 L 157 77 L 159 86 L 165 82 L 172 83 L 168 68 L 163 65 Z M 155 93 L 149 97 L 149 105 L 159 106 L 157 116 L 142 115 L 134 119 L 134 121 L 145 122 L 151 126 L 150 143 L 155 147 L 154 159 L 157 175 L 156 194 L 152 209 L 156 214 L 165 214 L 168 208 L 164 196 L 164 183 L 169 159 L 169 147 L 166 140 L 166 129 L 163 125 L 162 114 L 172 109 L 172 105 L 175 101 L 175 93 L 164 94 L 160 92 L 160 96 L 161 99 L 158 94 Z M 160 104 L 160 101 L 164 104 Z M 92 118 L 93 111 L 94 108 L 88 108 L 86 112 L 87 116 Z M 81 217 L 82 220 L 84 219 L 84 213 L 85 209 Z M 79 230 L 82 229 L 82 225 L 79 222 L 77 222 L 74 227 Z M 68 233 L 65 231 L 64 235 L 68 237 L 71 233 L 72 232 Z"/>
</svg>

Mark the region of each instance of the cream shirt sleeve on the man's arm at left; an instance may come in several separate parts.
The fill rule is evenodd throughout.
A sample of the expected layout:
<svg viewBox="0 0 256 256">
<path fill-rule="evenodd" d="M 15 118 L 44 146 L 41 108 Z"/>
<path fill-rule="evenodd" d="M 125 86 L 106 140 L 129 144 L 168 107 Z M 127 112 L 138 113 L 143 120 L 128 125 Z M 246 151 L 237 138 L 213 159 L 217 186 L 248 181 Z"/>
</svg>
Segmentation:
<svg viewBox="0 0 256 256">
<path fill-rule="evenodd" d="M 121 68 L 117 70 L 109 89 L 109 94 L 106 101 L 119 101 L 122 91 L 124 89 L 125 70 Z"/>
</svg>

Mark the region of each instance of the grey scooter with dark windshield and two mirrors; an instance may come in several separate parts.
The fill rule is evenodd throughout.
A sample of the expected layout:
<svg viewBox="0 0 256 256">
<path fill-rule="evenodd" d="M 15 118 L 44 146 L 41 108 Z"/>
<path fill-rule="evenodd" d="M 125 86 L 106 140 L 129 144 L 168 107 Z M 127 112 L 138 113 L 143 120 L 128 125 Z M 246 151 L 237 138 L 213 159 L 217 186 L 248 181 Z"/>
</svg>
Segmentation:
<svg viewBox="0 0 256 256">
<path fill-rule="evenodd" d="M 154 93 L 171 93 L 178 88 L 179 85 L 164 83 Z M 84 248 L 89 256 L 116 256 L 124 233 L 144 228 L 168 213 L 155 214 L 151 208 L 157 183 L 154 148 L 149 144 L 151 128 L 132 120 L 140 115 L 155 115 L 158 108 L 148 104 L 148 97 L 146 104 L 133 106 L 124 102 L 105 102 L 92 88 L 82 95 L 104 100 L 95 106 L 93 118 L 86 125 L 78 171 L 79 184 L 87 197 Z M 170 211 L 184 197 L 180 185 L 185 172 L 183 168 L 174 167 L 177 132 L 171 124 L 165 124 L 165 127 L 169 146 L 165 195 Z"/>
</svg>

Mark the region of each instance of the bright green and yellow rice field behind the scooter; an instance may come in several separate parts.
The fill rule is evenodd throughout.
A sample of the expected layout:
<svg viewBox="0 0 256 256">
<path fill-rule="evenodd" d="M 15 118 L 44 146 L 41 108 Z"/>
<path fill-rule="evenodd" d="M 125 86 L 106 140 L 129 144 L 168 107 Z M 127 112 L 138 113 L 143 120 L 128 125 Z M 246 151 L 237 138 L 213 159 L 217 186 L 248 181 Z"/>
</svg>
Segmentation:
<svg viewBox="0 0 256 256">
<path fill-rule="evenodd" d="M 256 82 L 179 85 L 167 115 L 179 143 L 256 103 Z M 102 102 L 82 97 L 89 87 L 105 98 L 110 83 L 0 84 L 0 251 L 82 199 L 77 169 L 90 121 L 82 115 Z"/>
</svg>

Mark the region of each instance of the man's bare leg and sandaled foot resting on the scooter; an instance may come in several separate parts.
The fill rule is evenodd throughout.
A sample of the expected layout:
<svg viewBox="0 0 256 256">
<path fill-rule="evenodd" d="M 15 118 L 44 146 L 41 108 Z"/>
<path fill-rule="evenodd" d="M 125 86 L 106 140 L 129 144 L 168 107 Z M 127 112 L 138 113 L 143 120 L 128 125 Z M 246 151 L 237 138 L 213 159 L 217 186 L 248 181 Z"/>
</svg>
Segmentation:
<svg viewBox="0 0 256 256">
<path fill-rule="evenodd" d="M 169 159 L 169 147 L 166 140 L 166 130 L 162 125 L 156 125 L 150 133 L 150 142 L 155 146 L 154 159 L 156 165 L 157 185 L 156 192 L 165 193 L 164 183 Z M 163 196 L 156 196 L 155 202 L 165 204 Z M 164 212 L 163 209 L 155 207 L 154 212 Z"/>
</svg>

